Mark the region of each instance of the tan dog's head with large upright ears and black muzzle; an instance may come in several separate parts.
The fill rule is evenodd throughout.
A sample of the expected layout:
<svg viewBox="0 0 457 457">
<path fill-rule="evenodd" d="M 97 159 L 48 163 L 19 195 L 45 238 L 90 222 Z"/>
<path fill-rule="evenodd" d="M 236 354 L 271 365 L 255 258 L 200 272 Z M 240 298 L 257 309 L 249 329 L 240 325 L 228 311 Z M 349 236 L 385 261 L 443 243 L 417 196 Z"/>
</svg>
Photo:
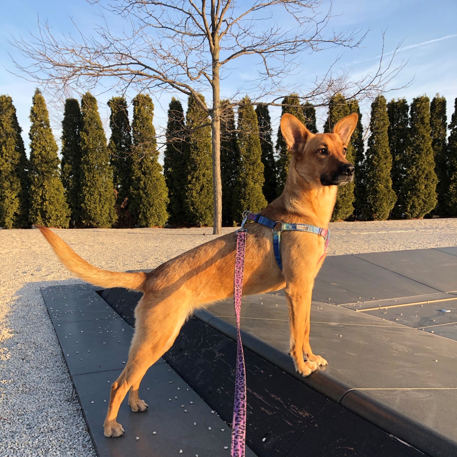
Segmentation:
<svg viewBox="0 0 457 457">
<path fill-rule="evenodd" d="M 281 118 L 281 132 L 292 154 L 293 167 L 303 180 L 318 186 L 340 186 L 354 179 L 354 165 L 346 149 L 358 116 L 353 113 L 335 125 L 332 133 L 311 133 L 292 114 Z"/>
</svg>

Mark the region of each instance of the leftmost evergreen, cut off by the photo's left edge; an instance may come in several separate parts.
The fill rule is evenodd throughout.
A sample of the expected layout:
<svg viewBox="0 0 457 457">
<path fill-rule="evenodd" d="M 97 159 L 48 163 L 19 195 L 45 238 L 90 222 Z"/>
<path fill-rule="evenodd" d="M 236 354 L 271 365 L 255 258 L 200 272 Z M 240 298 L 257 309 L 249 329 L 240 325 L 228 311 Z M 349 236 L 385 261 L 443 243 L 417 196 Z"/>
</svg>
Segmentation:
<svg viewBox="0 0 457 457">
<path fill-rule="evenodd" d="M 0 96 L 0 226 L 28 223 L 28 161 L 16 108 L 10 96 Z"/>
</svg>

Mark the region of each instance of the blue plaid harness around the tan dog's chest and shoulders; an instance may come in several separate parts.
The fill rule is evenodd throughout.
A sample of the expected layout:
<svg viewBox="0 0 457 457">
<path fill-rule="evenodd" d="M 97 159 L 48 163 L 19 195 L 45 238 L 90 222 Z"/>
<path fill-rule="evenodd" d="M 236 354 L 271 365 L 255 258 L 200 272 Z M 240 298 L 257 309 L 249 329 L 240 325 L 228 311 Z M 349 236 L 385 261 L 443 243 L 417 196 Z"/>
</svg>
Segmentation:
<svg viewBox="0 0 457 457">
<path fill-rule="evenodd" d="M 327 252 L 327 246 L 329 245 L 329 236 L 330 233 L 326 228 L 316 227 L 315 225 L 309 224 L 295 224 L 295 223 L 287 223 L 281 221 L 272 221 L 271 219 L 265 218 L 260 216 L 260 214 L 251 213 L 250 211 L 244 211 L 243 213 L 243 223 L 241 224 L 241 228 L 244 228 L 244 222 L 246 220 L 257 222 L 259 224 L 265 225 L 268 228 L 271 228 L 273 232 L 273 249 L 275 251 L 275 259 L 276 263 L 278 264 L 279 268 L 282 270 L 282 260 L 281 260 L 281 232 L 288 231 L 288 232 L 309 232 L 314 233 L 316 235 L 321 236 L 325 240 L 325 248 L 324 253 L 319 257 L 319 261 L 324 257 L 325 253 Z M 279 230 L 275 230 L 276 225 L 281 224 Z"/>
</svg>

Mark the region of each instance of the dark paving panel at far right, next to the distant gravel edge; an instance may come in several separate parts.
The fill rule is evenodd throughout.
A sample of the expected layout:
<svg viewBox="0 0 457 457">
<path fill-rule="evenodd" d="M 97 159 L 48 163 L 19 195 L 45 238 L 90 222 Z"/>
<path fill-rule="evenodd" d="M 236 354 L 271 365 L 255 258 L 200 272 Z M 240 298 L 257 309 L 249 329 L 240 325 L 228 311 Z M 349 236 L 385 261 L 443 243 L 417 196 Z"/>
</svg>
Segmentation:
<svg viewBox="0 0 457 457">
<path fill-rule="evenodd" d="M 356 257 L 407 276 L 441 292 L 457 290 L 457 257 L 440 250 L 415 249 L 374 252 L 371 254 L 356 254 Z M 404 297 L 406 295 L 420 294 L 411 293 L 402 294 L 401 296 Z M 376 295 L 374 296 L 376 297 Z"/>
</svg>

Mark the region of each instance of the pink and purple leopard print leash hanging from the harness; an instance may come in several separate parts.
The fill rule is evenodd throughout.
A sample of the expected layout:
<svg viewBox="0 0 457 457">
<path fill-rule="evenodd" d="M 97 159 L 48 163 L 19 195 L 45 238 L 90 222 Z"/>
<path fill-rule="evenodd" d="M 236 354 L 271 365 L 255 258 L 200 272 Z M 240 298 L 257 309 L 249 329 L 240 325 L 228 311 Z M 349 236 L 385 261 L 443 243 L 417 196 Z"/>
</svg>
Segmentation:
<svg viewBox="0 0 457 457">
<path fill-rule="evenodd" d="M 243 227 L 243 226 L 242 226 Z M 232 424 L 232 457 L 244 457 L 246 441 L 246 370 L 244 367 L 243 345 L 239 331 L 241 314 L 241 292 L 243 289 L 244 250 L 246 247 L 246 230 L 241 228 L 236 232 L 236 257 L 234 277 L 234 307 L 236 318 L 237 348 L 236 348 L 236 381 L 235 401 Z"/>
</svg>

